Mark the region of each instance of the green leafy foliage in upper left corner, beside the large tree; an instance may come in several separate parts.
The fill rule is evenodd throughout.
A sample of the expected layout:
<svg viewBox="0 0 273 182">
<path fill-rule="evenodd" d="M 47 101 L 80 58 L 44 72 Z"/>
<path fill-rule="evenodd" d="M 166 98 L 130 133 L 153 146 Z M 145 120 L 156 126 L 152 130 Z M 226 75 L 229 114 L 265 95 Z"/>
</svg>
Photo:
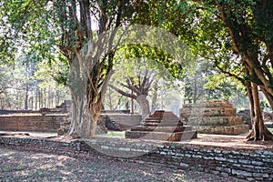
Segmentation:
<svg viewBox="0 0 273 182">
<path fill-rule="evenodd" d="M 15 60 L 18 52 L 35 60 L 54 55 L 57 29 L 47 1 L 1 1 L 0 59 Z"/>
</svg>

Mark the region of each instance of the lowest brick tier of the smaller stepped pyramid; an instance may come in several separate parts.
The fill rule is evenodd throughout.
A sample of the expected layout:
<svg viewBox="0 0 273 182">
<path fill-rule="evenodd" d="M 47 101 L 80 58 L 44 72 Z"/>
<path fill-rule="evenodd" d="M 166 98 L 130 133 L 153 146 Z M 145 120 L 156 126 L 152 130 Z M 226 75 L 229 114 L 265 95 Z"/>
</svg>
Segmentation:
<svg viewBox="0 0 273 182">
<path fill-rule="evenodd" d="M 185 131 L 185 132 L 177 132 L 177 133 L 126 131 L 126 138 L 181 141 L 181 140 L 187 140 L 191 138 L 197 138 L 197 131 Z"/>
</svg>

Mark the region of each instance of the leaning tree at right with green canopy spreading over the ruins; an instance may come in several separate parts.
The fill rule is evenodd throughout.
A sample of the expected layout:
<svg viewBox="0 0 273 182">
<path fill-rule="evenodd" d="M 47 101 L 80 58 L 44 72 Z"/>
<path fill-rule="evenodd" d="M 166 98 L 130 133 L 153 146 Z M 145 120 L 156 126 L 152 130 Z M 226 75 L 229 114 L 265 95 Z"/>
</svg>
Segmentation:
<svg viewBox="0 0 273 182">
<path fill-rule="evenodd" d="M 253 129 L 249 140 L 273 139 L 263 123 L 258 88 L 273 108 L 273 2 L 149 2 L 149 24 L 179 35 L 198 56 L 246 86 Z"/>
</svg>

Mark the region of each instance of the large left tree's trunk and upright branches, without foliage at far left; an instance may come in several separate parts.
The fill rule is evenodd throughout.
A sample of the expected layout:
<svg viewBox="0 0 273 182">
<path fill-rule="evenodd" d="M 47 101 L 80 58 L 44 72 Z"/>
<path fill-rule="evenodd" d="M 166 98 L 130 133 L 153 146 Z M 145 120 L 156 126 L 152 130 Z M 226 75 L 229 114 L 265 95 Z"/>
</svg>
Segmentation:
<svg viewBox="0 0 273 182">
<path fill-rule="evenodd" d="M 70 75 L 69 86 L 74 106 L 69 134 L 94 136 L 96 121 L 102 109 L 106 86 L 112 75 L 116 28 L 132 15 L 130 1 L 72 1 L 58 2 L 58 20 L 62 22 L 62 45 Z M 64 9 L 63 7 L 68 7 Z M 76 11 L 79 8 L 79 15 Z M 92 16 L 97 30 L 92 30 Z M 68 25 L 67 25 L 68 23 Z M 67 31 L 68 30 L 68 31 Z"/>
</svg>

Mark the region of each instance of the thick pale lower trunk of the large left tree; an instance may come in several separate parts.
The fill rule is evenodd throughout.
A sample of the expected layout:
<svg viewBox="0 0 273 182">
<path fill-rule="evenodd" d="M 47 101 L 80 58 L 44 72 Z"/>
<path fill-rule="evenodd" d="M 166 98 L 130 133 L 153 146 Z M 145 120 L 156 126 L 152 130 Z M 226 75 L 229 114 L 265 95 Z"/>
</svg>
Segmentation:
<svg viewBox="0 0 273 182">
<path fill-rule="evenodd" d="M 91 73 L 88 74 L 89 70 L 85 70 L 83 67 L 79 68 L 78 59 L 75 59 L 72 64 L 74 65 L 70 66 L 67 85 L 70 88 L 73 100 L 73 111 L 71 126 L 67 134 L 90 138 L 96 134 L 96 123 L 102 108 L 111 71 L 106 75 L 104 84 L 101 86 L 100 92 L 98 92 L 99 88 L 93 83 L 94 79 L 96 79 L 96 76 L 93 76 L 95 67 L 89 67 Z"/>
</svg>

